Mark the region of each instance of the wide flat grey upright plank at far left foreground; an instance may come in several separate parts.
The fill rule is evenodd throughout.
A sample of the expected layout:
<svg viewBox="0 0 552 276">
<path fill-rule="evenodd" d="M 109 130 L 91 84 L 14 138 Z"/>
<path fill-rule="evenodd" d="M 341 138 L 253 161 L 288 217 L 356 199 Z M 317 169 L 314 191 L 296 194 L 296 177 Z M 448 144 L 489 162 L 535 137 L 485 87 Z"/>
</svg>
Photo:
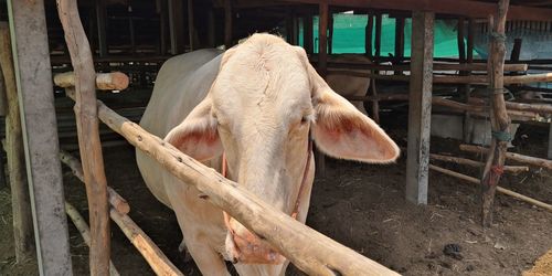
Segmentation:
<svg viewBox="0 0 552 276">
<path fill-rule="evenodd" d="M 73 275 L 43 0 L 8 1 L 39 273 Z"/>
</svg>

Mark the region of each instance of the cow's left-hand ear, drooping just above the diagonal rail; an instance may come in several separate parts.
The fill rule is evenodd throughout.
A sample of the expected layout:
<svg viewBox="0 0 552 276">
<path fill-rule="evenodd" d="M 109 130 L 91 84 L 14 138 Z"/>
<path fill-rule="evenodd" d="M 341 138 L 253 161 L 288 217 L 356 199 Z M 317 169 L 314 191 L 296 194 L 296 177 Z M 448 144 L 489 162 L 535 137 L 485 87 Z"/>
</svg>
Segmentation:
<svg viewBox="0 0 552 276">
<path fill-rule="evenodd" d="M 205 98 L 164 137 L 167 142 L 199 161 L 214 158 L 223 150 L 211 103 Z"/>
</svg>

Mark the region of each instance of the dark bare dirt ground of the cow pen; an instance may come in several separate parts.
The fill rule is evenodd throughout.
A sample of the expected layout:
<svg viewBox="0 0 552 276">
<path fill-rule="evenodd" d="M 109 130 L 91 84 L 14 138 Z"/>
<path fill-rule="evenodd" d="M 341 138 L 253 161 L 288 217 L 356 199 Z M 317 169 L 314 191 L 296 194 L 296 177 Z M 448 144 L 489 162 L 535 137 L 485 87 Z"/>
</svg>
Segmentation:
<svg viewBox="0 0 552 276">
<path fill-rule="evenodd" d="M 523 127 L 519 131 L 526 136 L 517 139 L 514 151 L 545 155 L 544 128 Z M 404 130 L 391 134 L 405 146 Z M 458 155 L 458 141 L 432 138 L 432 152 Z M 104 155 L 108 182 L 130 203 L 130 216 L 185 275 L 200 275 L 193 261 L 185 262 L 178 252 L 181 234 L 177 220 L 146 189 L 135 164 L 134 149 L 110 148 Z M 479 176 L 475 169 L 440 164 Z M 67 201 L 86 216 L 84 185 L 68 170 L 64 170 L 64 181 Z M 404 200 L 404 157 L 391 166 L 328 160 L 327 176 L 317 178 L 315 183 L 307 224 L 404 275 L 521 275 L 552 248 L 552 213 L 548 211 L 498 194 L 496 224 L 484 230 L 479 226 L 477 187 L 431 172 L 429 202 L 417 206 Z M 506 176 L 501 185 L 552 203 L 550 171 L 531 169 L 520 176 Z M 34 262 L 14 264 L 10 212 L 9 190 L 3 188 L 0 275 L 36 275 Z M 71 223 L 70 234 L 75 275 L 87 275 L 87 247 Z M 152 275 L 116 226 L 112 241 L 113 262 L 121 275 Z M 445 247 L 456 253 L 447 255 Z M 546 269 L 539 275 L 552 275 Z M 288 275 L 300 273 L 289 268 Z"/>
</svg>

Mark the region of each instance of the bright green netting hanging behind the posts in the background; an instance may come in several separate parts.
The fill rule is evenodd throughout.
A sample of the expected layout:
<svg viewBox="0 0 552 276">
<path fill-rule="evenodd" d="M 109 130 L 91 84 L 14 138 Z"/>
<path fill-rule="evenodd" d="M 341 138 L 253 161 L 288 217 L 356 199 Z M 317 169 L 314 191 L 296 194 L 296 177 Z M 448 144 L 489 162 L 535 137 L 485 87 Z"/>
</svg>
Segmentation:
<svg viewBox="0 0 552 276">
<path fill-rule="evenodd" d="M 333 14 L 332 53 L 365 53 L 367 15 L 339 13 Z M 318 17 L 314 18 L 314 45 L 318 52 Z M 374 26 L 375 29 L 375 26 Z M 445 21 L 435 21 L 435 49 L 436 57 L 457 57 L 458 44 L 456 28 Z M 375 30 L 374 30 L 375 33 Z M 404 28 L 404 55 L 411 54 L 412 21 L 405 22 Z M 374 39 L 372 39 L 374 40 Z M 302 28 L 300 29 L 299 44 L 302 45 Z M 374 43 L 372 43 L 373 45 Z M 384 15 L 382 18 L 381 55 L 394 55 L 395 51 L 395 19 Z M 372 53 L 374 53 L 372 49 Z"/>
</svg>

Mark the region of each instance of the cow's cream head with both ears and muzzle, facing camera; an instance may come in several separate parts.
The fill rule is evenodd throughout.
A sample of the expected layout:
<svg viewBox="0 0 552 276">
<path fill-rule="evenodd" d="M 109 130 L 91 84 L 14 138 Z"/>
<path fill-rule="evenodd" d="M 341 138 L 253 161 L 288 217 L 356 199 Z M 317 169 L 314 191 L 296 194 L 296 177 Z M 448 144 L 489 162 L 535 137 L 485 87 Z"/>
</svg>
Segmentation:
<svg viewBox="0 0 552 276">
<path fill-rule="evenodd" d="M 255 34 L 224 54 L 206 98 L 166 139 L 198 160 L 224 150 L 230 179 L 289 214 L 310 158 L 309 129 L 318 148 L 332 157 L 385 163 L 399 156 L 388 135 L 316 73 L 302 49 Z M 310 187 L 314 168 L 308 170 Z M 274 254 L 247 256 L 255 254 L 247 248 L 265 245 L 233 219 L 230 227 L 245 241 L 236 244 L 229 234 L 231 258 L 278 263 Z"/>
</svg>

